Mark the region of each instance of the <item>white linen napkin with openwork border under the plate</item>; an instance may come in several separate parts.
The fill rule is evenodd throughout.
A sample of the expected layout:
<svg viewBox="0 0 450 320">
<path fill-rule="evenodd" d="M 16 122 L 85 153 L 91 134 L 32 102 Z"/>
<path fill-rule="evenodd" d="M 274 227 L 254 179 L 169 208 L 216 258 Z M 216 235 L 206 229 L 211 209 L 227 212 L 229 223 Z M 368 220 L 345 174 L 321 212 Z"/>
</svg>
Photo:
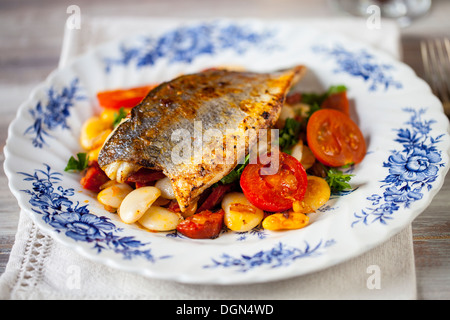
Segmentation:
<svg viewBox="0 0 450 320">
<path fill-rule="evenodd" d="M 162 21 L 83 18 L 80 29 L 66 28 L 60 67 L 97 44 Z M 379 30 L 354 19 L 310 24 L 401 57 L 399 31 L 388 21 Z M 0 277 L 0 299 L 416 299 L 411 226 L 357 258 L 312 274 L 242 286 L 193 285 L 145 278 L 90 261 L 54 241 L 21 212 L 10 260 Z"/>
</svg>

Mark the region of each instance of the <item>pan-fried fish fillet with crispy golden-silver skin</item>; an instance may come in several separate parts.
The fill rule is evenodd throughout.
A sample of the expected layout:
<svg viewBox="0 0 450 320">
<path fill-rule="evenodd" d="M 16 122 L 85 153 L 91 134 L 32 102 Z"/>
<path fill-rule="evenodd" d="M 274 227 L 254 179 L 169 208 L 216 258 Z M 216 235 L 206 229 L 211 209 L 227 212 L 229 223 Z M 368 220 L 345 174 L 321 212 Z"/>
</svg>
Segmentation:
<svg viewBox="0 0 450 320">
<path fill-rule="evenodd" d="M 227 143 L 236 145 L 236 139 L 250 129 L 271 128 L 287 92 L 305 71 L 304 66 L 273 73 L 211 69 L 164 82 L 110 135 L 99 154 L 99 164 L 118 181 L 141 167 L 162 170 L 171 179 L 178 204 L 185 211 L 245 156 L 238 150 L 234 161 L 219 161 L 223 154 L 215 151 L 225 152 Z M 173 134 L 184 130 L 196 137 L 199 124 L 202 134 L 212 129 L 223 139 L 203 141 L 200 160 L 174 163 L 172 151 L 179 147 L 179 141 Z M 254 142 L 247 137 L 245 150 Z"/>
</svg>

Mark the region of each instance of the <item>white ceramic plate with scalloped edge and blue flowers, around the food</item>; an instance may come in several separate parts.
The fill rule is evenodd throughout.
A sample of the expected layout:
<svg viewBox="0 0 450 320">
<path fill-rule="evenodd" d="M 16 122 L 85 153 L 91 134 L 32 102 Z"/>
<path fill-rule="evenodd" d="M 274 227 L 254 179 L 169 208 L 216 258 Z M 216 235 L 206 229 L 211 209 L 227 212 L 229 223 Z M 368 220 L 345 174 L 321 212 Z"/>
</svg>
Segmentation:
<svg viewBox="0 0 450 320">
<path fill-rule="evenodd" d="M 333 197 L 301 230 L 228 232 L 215 240 L 150 233 L 122 223 L 64 172 L 81 150 L 100 90 L 170 80 L 218 65 L 273 71 L 308 67 L 300 87 L 344 84 L 368 154 L 351 168 L 354 190 Z M 440 189 L 449 163 L 448 120 L 404 64 L 337 35 L 293 24 L 207 21 L 107 44 L 52 73 L 20 106 L 5 171 L 20 207 L 42 230 L 89 259 L 188 283 L 266 282 L 362 254 L 408 226 Z"/>
</svg>

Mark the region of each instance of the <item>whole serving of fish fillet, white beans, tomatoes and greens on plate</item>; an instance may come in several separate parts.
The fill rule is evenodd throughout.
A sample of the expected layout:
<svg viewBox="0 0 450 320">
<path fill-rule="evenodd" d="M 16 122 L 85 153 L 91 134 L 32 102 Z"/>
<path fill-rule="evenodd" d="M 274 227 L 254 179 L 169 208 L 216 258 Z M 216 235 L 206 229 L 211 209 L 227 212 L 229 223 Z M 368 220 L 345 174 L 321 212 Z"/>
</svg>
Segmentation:
<svg viewBox="0 0 450 320">
<path fill-rule="evenodd" d="M 223 229 L 304 228 L 332 194 L 351 189 L 344 171 L 366 154 L 347 88 L 292 89 L 305 72 L 210 68 L 98 92 L 102 111 L 84 122 L 83 150 L 65 170 L 80 172 L 82 187 L 123 222 L 152 232 L 214 239 Z"/>
</svg>

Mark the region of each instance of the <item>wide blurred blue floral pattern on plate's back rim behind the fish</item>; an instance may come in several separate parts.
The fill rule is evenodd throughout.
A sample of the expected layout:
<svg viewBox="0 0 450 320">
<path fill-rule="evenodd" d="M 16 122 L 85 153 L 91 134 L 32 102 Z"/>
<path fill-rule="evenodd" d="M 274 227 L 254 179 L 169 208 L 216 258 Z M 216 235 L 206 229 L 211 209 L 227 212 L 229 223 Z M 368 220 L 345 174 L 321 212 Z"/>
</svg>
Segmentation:
<svg viewBox="0 0 450 320">
<path fill-rule="evenodd" d="M 249 26 L 237 24 L 202 23 L 179 27 L 160 37 L 142 37 L 136 46 L 121 45 L 119 57 L 105 57 L 105 70 L 113 66 L 134 64 L 136 68 L 154 65 L 166 58 L 169 63 L 190 63 L 204 55 L 214 55 L 222 50 L 233 50 L 238 54 L 250 48 L 272 50 L 277 46 L 273 31 L 252 31 Z"/>
</svg>

